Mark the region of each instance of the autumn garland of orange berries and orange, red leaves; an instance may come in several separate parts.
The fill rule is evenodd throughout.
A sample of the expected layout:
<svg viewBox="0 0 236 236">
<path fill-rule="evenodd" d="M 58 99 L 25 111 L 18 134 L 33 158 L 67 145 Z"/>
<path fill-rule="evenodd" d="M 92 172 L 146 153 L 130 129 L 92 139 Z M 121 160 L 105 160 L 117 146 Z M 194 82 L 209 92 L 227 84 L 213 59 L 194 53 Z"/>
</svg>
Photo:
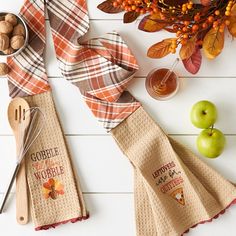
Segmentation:
<svg viewBox="0 0 236 236">
<path fill-rule="evenodd" d="M 174 33 L 175 37 L 152 45 L 147 55 L 163 58 L 180 47 L 179 56 L 192 74 L 201 67 L 201 49 L 208 59 L 214 59 L 224 48 L 226 29 L 236 37 L 236 0 L 106 0 L 98 8 L 106 13 L 125 11 L 124 23 L 145 14 L 140 30 Z"/>
</svg>

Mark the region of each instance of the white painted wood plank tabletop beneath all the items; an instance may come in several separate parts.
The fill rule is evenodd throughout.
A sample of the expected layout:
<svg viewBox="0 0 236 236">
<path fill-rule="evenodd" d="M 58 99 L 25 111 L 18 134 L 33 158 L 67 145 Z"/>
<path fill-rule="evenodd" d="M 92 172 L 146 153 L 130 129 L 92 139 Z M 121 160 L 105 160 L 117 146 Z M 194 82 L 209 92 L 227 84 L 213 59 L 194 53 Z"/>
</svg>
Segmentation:
<svg viewBox="0 0 236 236">
<path fill-rule="evenodd" d="M 87 38 L 112 30 L 123 36 L 141 66 L 130 90 L 169 134 L 196 153 L 195 140 L 200 130 L 190 123 L 189 111 L 198 100 L 213 101 L 219 111 L 216 127 L 226 134 L 227 147 L 224 154 L 216 160 L 200 158 L 236 182 L 236 42 L 232 42 L 228 37 L 223 53 L 214 61 L 204 59 L 202 68 L 196 76 L 188 74 L 183 66 L 179 65 L 177 72 L 181 75 L 180 92 L 170 101 L 158 102 L 148 96 L 144 87 L 145 76 L 155 67 L 170 67 L 176 56 L 152 60 L 146 57 L 146 50 L 153 43 L 167 37 L 167 33 L 141 32 L 137 29 L 138 23 L 124 25 L 122 14 L 108 15 L 96 9 L 101 1 L 88 0 L 91 21 Z M 17 13 L 22 3 L 23 0 L 0 0 L 0 11 Z M 47 70 L 91 218 L 81 223 L 35 232 L 32 223 L 27 226 L 16 223 L 13 192 L 8 203 L 8 211 L 0 215 L 0 235 L 135 236 L 132 168 L 110 135 L 106 134 L 94 119 L 77 88 L 61 77 L 49 30 L 47 34 Z M 7 185 L 15 158 L 14 137 L 6 115 L 9 100 L 7 79 L 3 78 L 0 80 L 0 197 Z M 189 235 L 234 236 L 235 222 L 236 207 L 232 207 L 223 217 L 210 224 L 198 226 L 191 230 Z"/>
</svg>

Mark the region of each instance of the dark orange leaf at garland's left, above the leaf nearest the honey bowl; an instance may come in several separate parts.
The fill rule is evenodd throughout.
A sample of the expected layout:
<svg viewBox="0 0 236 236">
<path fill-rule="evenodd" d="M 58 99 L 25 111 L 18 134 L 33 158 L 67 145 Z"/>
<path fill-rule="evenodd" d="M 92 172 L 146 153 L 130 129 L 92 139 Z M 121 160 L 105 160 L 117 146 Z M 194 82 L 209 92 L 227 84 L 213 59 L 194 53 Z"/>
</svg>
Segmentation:
<svg viewBox="0 0 236 236">
<path fill-rule="evenodd" d="M 169 23 L 161 19 L 159 12 L 145 16 L 139 23 L 138 28 L 145 32 L 157 32 L 168 26 Z"/>
</svg>

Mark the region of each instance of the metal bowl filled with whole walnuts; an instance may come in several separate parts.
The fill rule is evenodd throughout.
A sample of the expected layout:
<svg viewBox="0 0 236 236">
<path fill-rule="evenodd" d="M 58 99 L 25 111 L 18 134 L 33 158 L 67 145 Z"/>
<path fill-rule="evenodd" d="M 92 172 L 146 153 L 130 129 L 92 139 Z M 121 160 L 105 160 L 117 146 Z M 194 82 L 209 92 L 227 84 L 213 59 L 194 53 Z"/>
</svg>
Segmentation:
<svg viewBox="0 0 236 236">
<path fill-rule="evenodd" d="M 28 42 L 28 29 L 23 18 L 13 13 L 0 12 L 0 56 L 14 56 Z"/>
</svg>

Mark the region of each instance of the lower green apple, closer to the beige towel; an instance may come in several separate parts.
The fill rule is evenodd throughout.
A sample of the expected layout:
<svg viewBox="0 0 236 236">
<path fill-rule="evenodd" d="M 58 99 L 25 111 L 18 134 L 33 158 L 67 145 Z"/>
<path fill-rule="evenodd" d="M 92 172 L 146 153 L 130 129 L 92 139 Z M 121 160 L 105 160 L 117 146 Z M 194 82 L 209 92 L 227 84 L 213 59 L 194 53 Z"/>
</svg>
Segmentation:
<svg viewBox="0 0 236 236">
<path fill-rule="evenodd" d="M 197 138 L 198 151 L 205 157 L 216 158 L 224 150 L 225 136 L 218 129 L 205 129 Z"/>
</svg>

